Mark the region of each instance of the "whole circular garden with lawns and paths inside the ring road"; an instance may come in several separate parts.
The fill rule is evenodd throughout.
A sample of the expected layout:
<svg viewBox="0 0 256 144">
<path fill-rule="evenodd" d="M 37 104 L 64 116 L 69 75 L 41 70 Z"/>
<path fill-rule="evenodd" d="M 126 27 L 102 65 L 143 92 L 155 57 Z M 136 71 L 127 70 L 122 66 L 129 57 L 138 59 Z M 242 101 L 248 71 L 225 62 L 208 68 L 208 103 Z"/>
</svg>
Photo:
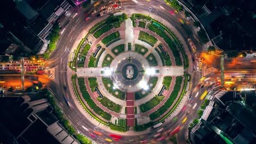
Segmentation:
<svg viewBox="0 0 256 144">
<path fill-rule="evenodd" d="M 89 30 L 78 52 L 86 58 L 71 63 L 77 67 L 75 94 L 112 130 L 142 131 L 164 121 L 187 91 L 183 46 L 169 28 L 145 15 L 109 16 Z"/>
</svg>

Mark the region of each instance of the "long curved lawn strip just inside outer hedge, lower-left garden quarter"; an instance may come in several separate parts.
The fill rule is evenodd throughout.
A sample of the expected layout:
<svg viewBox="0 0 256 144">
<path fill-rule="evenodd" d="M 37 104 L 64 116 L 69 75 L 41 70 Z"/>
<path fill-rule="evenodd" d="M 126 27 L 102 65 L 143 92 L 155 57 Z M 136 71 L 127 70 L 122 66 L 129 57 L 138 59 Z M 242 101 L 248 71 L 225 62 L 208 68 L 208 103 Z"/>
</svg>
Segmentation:
<svg viewBox="0 0 256 144">
<path fill-rule="evenodd" d="M 86 103 L 91 107 L 93 111 L 95 111 L 98 115 L 100 115 L 102 118 L 107 119 L 108 121 L 111 119 L 111 115 L 105 111 L 103 111 L 100 107 L 98 107 L 95 103 L 94 100 L 91 99 L 86 87 L 85 87 L 85 82 L 83 77 L 78 77 L 78 86 L 80 89 L 80 92 L 83 95 L 84 100 Z"/>
</svg>

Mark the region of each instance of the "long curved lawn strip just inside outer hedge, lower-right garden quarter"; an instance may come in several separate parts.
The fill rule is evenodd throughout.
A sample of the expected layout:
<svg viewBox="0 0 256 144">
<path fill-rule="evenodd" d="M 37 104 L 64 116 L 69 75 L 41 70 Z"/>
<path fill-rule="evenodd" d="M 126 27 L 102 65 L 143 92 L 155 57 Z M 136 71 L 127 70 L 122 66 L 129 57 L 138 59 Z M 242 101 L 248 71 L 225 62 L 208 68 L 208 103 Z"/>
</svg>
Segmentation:
<svg viewBox="0 0 256 144">
<path fill-rule="evenodd" d="M 172 93 L 170 97 L 166 100 L 165 104 L 161 106 L 157 111 L 151 113 L 149 115 L 150 119 L 153 121 L 154 119 L 160 117 L 162 114 L 164 114 L 167 109 L 172 105 L 174 100 L 178 97 L 178 93 L 181 90 L 181 84 L 182 84 L 182 76 L 177 76 L 175 80 L 175 85 L 172 90 Z"/>
</svg>

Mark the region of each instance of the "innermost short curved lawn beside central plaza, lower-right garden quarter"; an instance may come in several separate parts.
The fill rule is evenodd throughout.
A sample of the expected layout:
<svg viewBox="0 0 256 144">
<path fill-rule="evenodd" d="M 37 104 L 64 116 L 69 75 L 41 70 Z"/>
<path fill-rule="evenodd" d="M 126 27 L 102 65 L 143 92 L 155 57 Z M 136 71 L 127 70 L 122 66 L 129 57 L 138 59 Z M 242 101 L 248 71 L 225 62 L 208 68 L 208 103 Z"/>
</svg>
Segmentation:
<svg viewBox="0 0 256 144">
<path fill-rule="evenodd" d="M 148 86 L 149 86 L 149 90 L 151 91 L 156 83 L 158 82 L 158 77 L 150 77 L 149 81 L 148 81 Z M 141 89 L 140 91 L 135 92 L 135 99 L 142 99 L 144 97 L 146 97 L 150 91 L 145 91 L 144 89 Z"/>
</svg>

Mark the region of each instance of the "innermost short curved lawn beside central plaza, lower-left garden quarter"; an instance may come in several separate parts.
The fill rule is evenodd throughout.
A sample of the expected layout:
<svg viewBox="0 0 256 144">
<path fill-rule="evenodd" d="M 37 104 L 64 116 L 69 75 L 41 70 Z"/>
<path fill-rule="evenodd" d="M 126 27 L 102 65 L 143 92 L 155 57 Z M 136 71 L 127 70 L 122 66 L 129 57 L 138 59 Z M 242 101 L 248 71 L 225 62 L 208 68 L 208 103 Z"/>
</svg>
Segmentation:
<svg viewBox="0 0 256 144">
<path fill-rule="evenodd" d="M 114 97 L 119 99 L 125 99 L 125 93 L 120 91 L 119 89 L 113 89 L 113 83 L 109 77 L 102 77 L 103 85 L 106 87 L 109 93 L 111 93 Z"/>
</svg>

